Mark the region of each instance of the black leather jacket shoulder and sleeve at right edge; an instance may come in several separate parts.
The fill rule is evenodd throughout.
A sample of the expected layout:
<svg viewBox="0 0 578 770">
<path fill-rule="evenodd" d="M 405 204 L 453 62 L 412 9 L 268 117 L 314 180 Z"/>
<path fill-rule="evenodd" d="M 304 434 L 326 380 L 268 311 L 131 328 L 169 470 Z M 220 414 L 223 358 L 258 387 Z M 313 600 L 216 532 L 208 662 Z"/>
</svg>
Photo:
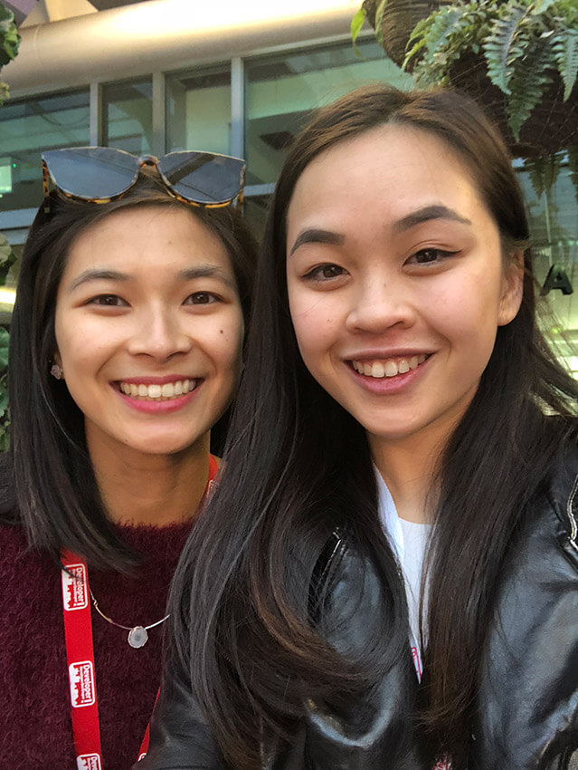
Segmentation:
<svg viewBox="0 0 578 770">
<path fill-rule="evenodd" d="M 578 450 L 561 442 L 508 552 L 482 660 L 476 766 L 526 770 L 575 742 L 577 479 Z"/>
</svg>

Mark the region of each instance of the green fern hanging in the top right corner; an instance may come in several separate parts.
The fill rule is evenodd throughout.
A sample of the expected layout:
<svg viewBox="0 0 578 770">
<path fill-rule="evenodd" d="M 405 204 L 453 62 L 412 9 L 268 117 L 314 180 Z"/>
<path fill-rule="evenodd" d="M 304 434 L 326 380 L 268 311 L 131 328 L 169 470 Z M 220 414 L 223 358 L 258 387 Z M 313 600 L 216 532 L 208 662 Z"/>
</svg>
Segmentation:
<svg viewBox="0 0 578 770">
<path fill-rule="evenodd" d="M 404 69 L 420 85 L 448 84 L 462 57 L 482 54 L 505 94 L 508 124 L 520 129 L 557 72 L 567 101 L 578 74 L 576 0 L 456 0 L 416 25 Z"/>
</svg>

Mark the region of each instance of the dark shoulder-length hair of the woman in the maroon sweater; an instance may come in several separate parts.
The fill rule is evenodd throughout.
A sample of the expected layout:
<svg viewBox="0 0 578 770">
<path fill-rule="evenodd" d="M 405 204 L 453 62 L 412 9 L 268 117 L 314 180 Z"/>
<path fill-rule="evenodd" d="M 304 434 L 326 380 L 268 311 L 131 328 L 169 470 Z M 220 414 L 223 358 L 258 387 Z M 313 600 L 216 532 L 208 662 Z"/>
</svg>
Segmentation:
<svg viewBox="0 0 578 770">
<path fill-rule="evenodd" d="M 3 521 L 22 523 L 29 543 L 55 557 L 67 547 L 93 566 L 118 570 L 128 569 L 137 555 L 109 525 L 90 465 L 82 412 L 50 369 L 56 351 L 56 294 L 71 245 L 113 212 L 142 206 L 183 208 L 220 238 L 248 318 L 255 245 L 234 207 L 181 203 L 147 168 L 124 197 L 107 204 L 75 202 L 52 192 L 50 213 L 40 207 L 24 245 L 10 326 L 10 450 L 0 466 Z"/>
</svg>

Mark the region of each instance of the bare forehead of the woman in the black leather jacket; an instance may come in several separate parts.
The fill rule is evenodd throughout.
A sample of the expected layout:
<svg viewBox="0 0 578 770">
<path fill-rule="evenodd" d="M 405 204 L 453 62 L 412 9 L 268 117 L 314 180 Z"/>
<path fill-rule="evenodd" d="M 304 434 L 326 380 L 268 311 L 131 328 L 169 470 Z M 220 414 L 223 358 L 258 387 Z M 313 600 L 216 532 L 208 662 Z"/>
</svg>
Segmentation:
<svg viewBox="0 0 578 770">
<path fill-rule="evenodd" d="M 457 150 L 428 131 L 384 125 L 320 153 L 298 178 L 288 209 L 295 228 L 385 226 L 412 210 L 443 204 L 469 217 L 485 211 Z M 486 212 L 488 216 L 488 212 Z"/>
</svg>

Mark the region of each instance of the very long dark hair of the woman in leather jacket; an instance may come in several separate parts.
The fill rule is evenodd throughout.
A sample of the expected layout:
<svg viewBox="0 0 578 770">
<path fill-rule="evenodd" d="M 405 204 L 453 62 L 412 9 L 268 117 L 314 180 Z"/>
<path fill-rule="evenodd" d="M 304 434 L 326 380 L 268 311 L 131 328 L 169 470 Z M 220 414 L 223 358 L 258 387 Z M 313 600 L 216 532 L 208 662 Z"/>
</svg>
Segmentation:
<svg viewBox="0 0 578 770">
<path fill-rule="evenodd" d="M 337 142 L 385 123 L 446 142 L 475 179 L 505 255 L 525 255 L 519 313 L 498 329 L 478 393 L 440 460 L 419 706 L 426 762 L 447 751 L 458 768 L 467 756 L 479 650 L 508 544 L 560 443 L 575 436 L 578 387 L 536 327 L 526 213 L 497 130 L 473 102 L 445 91 L 375 87 L 320 110 L 280 173 L 226 471 L 187 544 L 171 598 L 175 650 L 235 768 L 260 766 L 260 728 L 290 736 L 306 698 L 342 702 L 370 687 L 407 644 L 403 587 L 378 523 L 365 433 L 301 361 L 285 277 L 287 210 L 303 169 Z M 546 412 L 558 415 L 555 429 Z M 389 603 L 391 625 L 374 630 L 356 659 L 320 638 L 306 601 L 336 528 L 379 573 Z"/>
</svg>

